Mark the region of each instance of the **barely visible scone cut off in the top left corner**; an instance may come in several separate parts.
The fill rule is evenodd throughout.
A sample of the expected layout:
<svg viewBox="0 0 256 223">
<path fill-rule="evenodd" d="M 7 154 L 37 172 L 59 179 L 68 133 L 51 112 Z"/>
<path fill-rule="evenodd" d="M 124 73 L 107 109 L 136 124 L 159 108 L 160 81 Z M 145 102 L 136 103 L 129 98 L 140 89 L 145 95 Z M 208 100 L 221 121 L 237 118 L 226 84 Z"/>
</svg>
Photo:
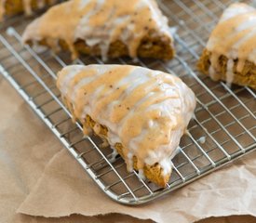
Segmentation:
<svg viewBox="0 0 256 223">
<path fill-rule="evenodd" d="M 20 12 L 31 15 L 33 9 L 53 5 L 58 0 L 0 0 L 0 21 L 4 16 L 14 16 Z"/>
</svg>

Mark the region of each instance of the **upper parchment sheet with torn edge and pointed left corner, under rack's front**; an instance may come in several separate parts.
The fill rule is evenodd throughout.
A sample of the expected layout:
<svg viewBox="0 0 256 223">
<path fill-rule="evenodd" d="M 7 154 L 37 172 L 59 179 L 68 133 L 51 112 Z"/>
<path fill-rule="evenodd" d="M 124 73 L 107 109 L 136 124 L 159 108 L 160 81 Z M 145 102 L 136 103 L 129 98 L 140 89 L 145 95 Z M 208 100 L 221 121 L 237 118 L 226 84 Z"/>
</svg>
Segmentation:
<svg viewBox="0 0 256 223">
<path fill-rule="evenodd" d="M 245 168 L 245 163 L 247 168 Z M 137 207 L 111 201 L 67 151 L 57 153 L 18 212 L 32 216 L 122 213 L 156 222 L 209 216 L 255 215 L 256 154 L 157 201 Z M 254 202 L 254 203 L 253 203 Z"/>
</svg>

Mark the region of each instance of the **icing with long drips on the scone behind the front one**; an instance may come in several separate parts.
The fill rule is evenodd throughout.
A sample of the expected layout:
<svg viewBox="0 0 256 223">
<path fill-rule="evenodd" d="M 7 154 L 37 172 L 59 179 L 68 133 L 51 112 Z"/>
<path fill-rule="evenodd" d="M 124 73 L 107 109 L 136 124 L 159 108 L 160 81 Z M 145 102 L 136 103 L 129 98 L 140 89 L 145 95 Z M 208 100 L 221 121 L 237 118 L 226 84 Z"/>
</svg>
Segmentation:
<svg viewBox="0 0 256 223">
<path fill-rule="evenodd" d="M 152 31 L 171 39 L 168 20 L 155 0 L 70 0 L 34 20 L 23 34 L 23 41 L 45 39 L 49 46 L 58 48 L 58 40 L 64 40 L 73 59 L 77 57 L 76 40 L 100 46 L 103 59 L 107 58 L 111 43 L 121 41 L 128 46 L 129 56 L 136 58 L 142 37 Z"/>
</svg>

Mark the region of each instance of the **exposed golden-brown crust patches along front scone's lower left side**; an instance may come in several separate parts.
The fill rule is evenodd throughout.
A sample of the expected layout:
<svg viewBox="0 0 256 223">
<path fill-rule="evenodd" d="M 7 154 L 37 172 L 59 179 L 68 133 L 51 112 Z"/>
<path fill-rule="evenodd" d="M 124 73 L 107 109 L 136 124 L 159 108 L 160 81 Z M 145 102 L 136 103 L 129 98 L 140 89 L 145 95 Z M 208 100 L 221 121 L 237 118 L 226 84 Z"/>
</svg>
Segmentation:
<svg viewBox="0 0 256 223">
<path fill-rule="evenodd" d="M 72 104 L 67 101 L 66 98 L 63 99 L 64 103 L 68 108 L 73 108 Z M 73 111 L 71 111 L 73 112 Z M 94 125 L 96 125 L 96 122 L 91 119 L 90 116 L 87 115 L 86 120 L 78 120 L 82 123 L 82 125 L 89 127 L 90 129 L 93 129 Z M 100 124 L 98 124 L 100 125 Z M 99 137 L 103 138 L 104 140 L 108 140 L 107 138 L 107 132 L 108 129 L 104 125 L 100 125 L 100 132 L 97 134 Z M 123 153 L 123 146 L 121 143 L 116 143 L 115 144 L 115 150 L 118 152 L 118 154 L 125 159 L 124 153 Z M 137 157 L 133 156 L 133 168 L 135 170 L 138 170 L 137 167 Z M 148 165 L 145 164 L 143 167 L 143 174 L 144 176 L 149 179 L 150 181 L 154 182 L 156 185 L 158 185 L 161 188 L 165 188 L 167 186 L 168 180 L 170 175 L 163 175 L 162 168 L 159 164 L 154 164 L 154 165 Z"/>
</svg>

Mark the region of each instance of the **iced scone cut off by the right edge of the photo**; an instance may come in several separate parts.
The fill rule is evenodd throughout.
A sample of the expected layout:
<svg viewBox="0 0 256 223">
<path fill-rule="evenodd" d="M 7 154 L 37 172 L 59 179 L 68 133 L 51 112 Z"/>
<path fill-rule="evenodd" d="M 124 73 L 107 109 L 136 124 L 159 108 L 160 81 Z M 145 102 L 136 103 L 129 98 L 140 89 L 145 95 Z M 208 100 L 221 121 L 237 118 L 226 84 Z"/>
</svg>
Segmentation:
<svg viewBox="0 0 256 223">
<path fill-rule="evenodd" d="M 256 89 L 256 9 L 243 3 L 226 8 L 198 62 L 213 80 Z"/>
</svg>

